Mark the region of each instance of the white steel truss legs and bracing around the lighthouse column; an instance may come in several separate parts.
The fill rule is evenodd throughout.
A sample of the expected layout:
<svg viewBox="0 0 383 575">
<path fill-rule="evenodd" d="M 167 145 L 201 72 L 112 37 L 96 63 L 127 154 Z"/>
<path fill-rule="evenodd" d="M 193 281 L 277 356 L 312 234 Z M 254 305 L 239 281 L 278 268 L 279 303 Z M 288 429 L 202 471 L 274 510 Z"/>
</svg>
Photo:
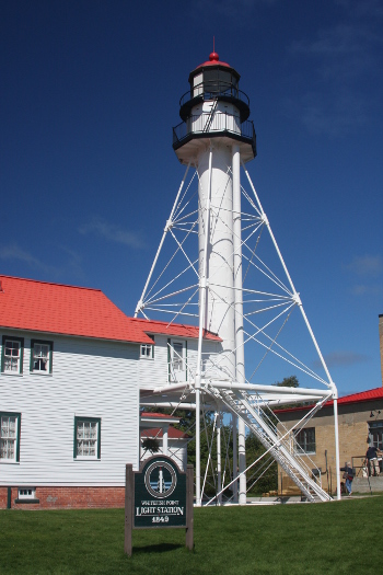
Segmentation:
<svg viewBox="0 0 383 575">
<path fill-rule="evenodd" d="M 210 149 L 210 165 L 211 165 Z M 332 380 L 326 363 L 323 358 L 312 327 L 303 309 L 300 294 L 295 290 L 285 260 L 281 255 L 268 218 L 262 207 L 254 184 L 244 164 L 249 189 L 241 186 L 242 202 L 233 204 L 233 258 L 240 257 L 242 265 L 241 285 L 234 283 L 234 302 L 225 302 L 228 309 L 234 307 L 234 313 L 241 314 L 243 333 L 236 338 L 235 348 L 229 354 L 233 366 L 239 365 L 239 357 L 246 356 L 246 376 L 237 380 L 228 380 L 224 363 L 228 353 L 212 355 L 204 350 L 204 317 L 206 298 L 220 300 L 220 285 L 216 278 L 207 277 L 207 261 L 199 262 L 196 234 L 201 221 L 210 221 L 211 226 L 218 219 L 224 218 L 221 206 L 208 199 L 206 205 L 198 202 L 198 173 L 187 166 L 176 198 L 166 221 L 164 232 L 151 266 L 141 298 L 137 304 L 135 317 L 142 314 L 146 319 L 161 319 L 173 322 L 194 323 L 199 325 L 199 341 L 196 366 L 187 366 L 188 383 L 170 384 L 169 381 L 159 382 L 151 398 L 146 398 L 144 405 L 161 405 L 163 407 L 183 409 L 184 405 L 196 409 L 196 503 L 204 499 L 207 481 L 200 472 L 200 433 L 204 417 L 204 402 L 207 410 L 216 412 L 212 435 L 216 436 L 217 469 L 214 470 L 216 496 L 208 503 L 221 503 L 222 494 L 232 488 L 233 499 L 236 501 L 237 486 L 243 492 L 243 480 L 246 472 L 258 465 L 258 475 L 262 476 L 269 457 L 276 460 L 283 471 L 293 480 L 307 501 L 328 501 L 330 496 L 322 488 L 321 482 L 313 476 L 315 464 L 306 453 L 305 459 L 297 457 L 300 448 L 295 441 L 297 434 L 307 425 L 311 417 L 326 403 L 334 400 L 335 446 L 337 468 L 337 497 L 340 498 L 338 422 L 337 422 L 337 389 Z M 189 173 L 192 175 L 189 175 Z M 232 177 L 232 168 L 228 166 L 228 179 Z M 235 223 L 236 222 L 236 223 Z M 206 233 L 206 241 L 208 233 Z M 266 244 L 265 249 L 263 249 Z M 207 249 L 204 252 L 207 253 Z M 223 265 L 223 264 L 222 264 Z M 240 301 L 240 306 L 237 302 Z M 200 304 L 199 304 L 200 302 Z M 297 318 L 298 312 L 298 318 Z M 294 320 L 292 320 L 294 318 Z M 300 327 L 305 330 L 305 340 L 298 338 L 298 350 L 291 349 L 295 342 L 297 320 Z M 240 322 L 240 323 L 241 323 Z M 290 325 L 292 324 L 292 327 Z M 207 326 L 208 327 L 208 326 Z M 240 343 L 239 343 L 240 342 Z M 307 355 L 312 367 L 301 359 L 301 353 Z M 293 345 L 292 345 L 293 347 Z M 313 369 L 312 353 L 315 353 L 320 369 Z M 298 370 L 300 378 L 305 380 L 304 388 L 281 388 L 272 386 L 275 373 L 280 372 L 280 364 Z M 279 365 L 279 371 L 275 371 Z M 285 368 L 286 369 L 286 368 Z M 236 370 L 239 373 L 239 371 Z M 253 383 L 257 380 L 271 381 L 269 384 Z M 312 384 L 315 384 L 315 388 Z M 162 402 L 160 394 L 166 390 L 173 400 Z M 156 395 L 159 394 L 159 395 Z M 188 402 L 186 404 L 186 401 Z M 310 402 L 313 407 L 302 417 L 293 432 L 287 430 L 272 409 L 300 402 Z M 232 464 L 228 459 L 228 439 L 222 441 L 221 421 L 223 413 L 232 415 L 233 457 Z M 224 416 L 227 417 L 227 416 Z M 265 453 L 245 469 L 237 461 L 236 452 L 236 421 L 243 422 L 257 437 L 265 448 Z M 205 426 L 206 427 L 206 426 Z M 206 429 L 205 429 L 206 430 Z M 240 432 L 241 434 L 241 432 Z M 209 460 L 211 464 L 212 438 L 209 442 Z M 222 444 L 225 447 L 222 468 Z M 302 452 L 303 453 L 303 452 Z M 242 452 L 242 457 L 243 457 Z M 260 467 L 259 467 L 260 465 Z M 310 467 L 311 465 L 311 467 Z M 257 473 L 257 472 L 256 472 Z M 254 481 L 251 479 L 251 486 Z M 242 483 L 241 483 L 242 481 Z M 202 483 L 202 488 L 200 487 Z M 240 496 L 241 503 L 241 496 Z M 242 498 L 243 503 L 243 498 Z"/>
</svg>

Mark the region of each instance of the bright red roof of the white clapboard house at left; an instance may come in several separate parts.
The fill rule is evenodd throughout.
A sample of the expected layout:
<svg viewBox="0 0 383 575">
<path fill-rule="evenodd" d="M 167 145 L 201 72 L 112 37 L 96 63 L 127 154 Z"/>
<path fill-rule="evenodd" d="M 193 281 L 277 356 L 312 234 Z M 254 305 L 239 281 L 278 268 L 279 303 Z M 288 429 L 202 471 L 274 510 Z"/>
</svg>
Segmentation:
<svg viewBox="0 0 383 575">
<path fill-rule="evenodd" d="M 198 337 L 198 327 L 128 318 L 100 289 L 0 275 L 0 325 L 100 340 L 149 343 L 149 333 Z M 206 340 L 221 341 L 206 332 Z"/>
</svg>

